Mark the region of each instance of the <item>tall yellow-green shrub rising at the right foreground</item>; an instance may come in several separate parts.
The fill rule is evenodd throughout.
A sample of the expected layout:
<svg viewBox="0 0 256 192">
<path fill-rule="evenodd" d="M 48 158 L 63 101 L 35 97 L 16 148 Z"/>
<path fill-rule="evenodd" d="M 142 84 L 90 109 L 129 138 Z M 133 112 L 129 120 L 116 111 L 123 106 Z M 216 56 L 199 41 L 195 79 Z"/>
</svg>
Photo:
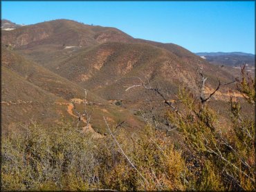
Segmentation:
<svg viewBox="0 0 256 192">
<path fill-rule="evenodd" d="M 237 88 L 247 102 L 255 105 L 255 81 L 245 77 L 244 68 L 241 75 Z M 186 148 L 202 160 L 201 173 L 197 182 L 192 179 L 192 189 L 255 191 L 254 117 L 242 117 L 239 102 L 231 97 L 232 123 L 225 127 L 227 133 L 222 133 L 217 114 L 202 99 L 186 88 L 179 91 L 179 99 L 185 110 L 170 110 L 169 120 L 183 134 Z"/>
</svg>

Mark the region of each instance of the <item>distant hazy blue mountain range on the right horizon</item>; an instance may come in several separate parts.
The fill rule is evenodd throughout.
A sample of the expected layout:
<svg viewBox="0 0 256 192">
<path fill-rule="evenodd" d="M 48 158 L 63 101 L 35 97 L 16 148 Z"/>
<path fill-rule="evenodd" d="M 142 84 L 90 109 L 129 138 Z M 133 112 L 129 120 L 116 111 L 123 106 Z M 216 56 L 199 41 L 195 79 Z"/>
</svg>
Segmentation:
<svg viewBox="0 0 256 192">
<path fill-rule="evenodd" d="M 210 64 L 239 67 L 246 64 L 255 67 L 255 55 L 246 52 L 196 52 Z"/>
</svg>

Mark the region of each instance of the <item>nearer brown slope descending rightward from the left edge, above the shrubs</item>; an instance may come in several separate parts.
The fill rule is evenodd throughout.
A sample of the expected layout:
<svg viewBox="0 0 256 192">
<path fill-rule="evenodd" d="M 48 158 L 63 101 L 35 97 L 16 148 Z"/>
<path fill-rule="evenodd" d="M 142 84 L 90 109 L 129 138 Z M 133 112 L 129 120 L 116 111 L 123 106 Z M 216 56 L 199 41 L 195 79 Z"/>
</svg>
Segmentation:
<svg viewBox="0 0 256 192">
<path fill-rule="evenodd" d="M 65 121 L 76 122 L 77 118 L 68 114 L 68 106 L 75 102 L 80 113 L 83 109 L 84 88 L 29 61 L 13 50 L 2 49 L 2 89 L 1 107 L 3 131 L 15 127 L 15 123 L 29 122 L 31 119 L 53 126 Z M 123 117 L 129 117 L 124 126 L 136 128 L 143 124 L 137 117 L 89 92 L 86 99 L 87 110 L 92 113 L 91 124 L 104 133 L 102 114 L 113 124 Z M 73 112 L 75 113 L 75 112 Z M 24 115 L 26 114 L 26 115 Z M 82 124 L 81 124 L 82 126 Z"/>
</svg>

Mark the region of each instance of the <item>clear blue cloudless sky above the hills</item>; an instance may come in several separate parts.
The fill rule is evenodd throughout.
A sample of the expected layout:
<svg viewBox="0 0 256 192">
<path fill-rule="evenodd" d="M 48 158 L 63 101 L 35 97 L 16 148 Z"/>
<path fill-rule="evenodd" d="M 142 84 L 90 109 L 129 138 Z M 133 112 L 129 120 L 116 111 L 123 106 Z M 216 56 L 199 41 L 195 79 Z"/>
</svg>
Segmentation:
<svg viewBox="0 0 256 192">
<path fill-rule="evenodd" d="M 192 52 L 255 53 L 254 1 L 1 1 L 1 18 L 73 19 Z"/>
</svg>

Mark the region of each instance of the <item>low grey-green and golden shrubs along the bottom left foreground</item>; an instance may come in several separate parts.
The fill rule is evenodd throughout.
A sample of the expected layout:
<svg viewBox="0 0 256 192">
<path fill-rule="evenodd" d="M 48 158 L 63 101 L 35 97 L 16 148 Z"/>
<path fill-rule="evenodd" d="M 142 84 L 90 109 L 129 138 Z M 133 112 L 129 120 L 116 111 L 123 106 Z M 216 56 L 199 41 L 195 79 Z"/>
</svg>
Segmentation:
<svg viewBox="0 0 256 192">
<path fill-rule="evenodd" d="M 116 131 L 120 152 L 111 135 L 95 139 L 71 124 L 43 128 L 24 126 L 2 140 L 1 187 L 5 191 L 116 189 L 184 189 L 185 164 L 161 133 L 147 127 L 132 139 Z M 134 142 L 132 142 L 134 140 Z"/>
</svg>

